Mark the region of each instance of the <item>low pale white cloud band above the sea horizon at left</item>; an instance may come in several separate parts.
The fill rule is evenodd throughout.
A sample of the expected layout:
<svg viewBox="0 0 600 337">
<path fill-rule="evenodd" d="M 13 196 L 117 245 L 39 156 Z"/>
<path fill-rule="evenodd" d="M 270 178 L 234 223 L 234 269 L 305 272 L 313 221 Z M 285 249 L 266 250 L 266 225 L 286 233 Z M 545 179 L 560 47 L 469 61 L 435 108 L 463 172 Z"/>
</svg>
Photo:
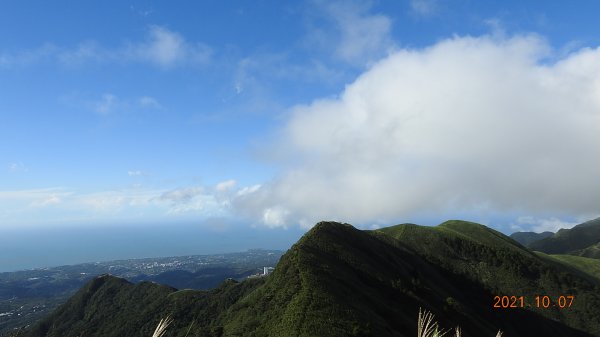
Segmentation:
<svg viewBox="0 0 600 337">
<path fill-rule="evenodd" d="M 138 171 L 131 171 L 134 175 Z M 143 172 L 142 172 L 143 174 Z M 218 188 L 218 186 L 220 186 Z M 0 190 L 0 228 L 21 225 L 154 222 L 231 218 L 231 199 L 240 191 L 234 180 L 214 186 L 123 189 L 82 192 L 65 188 Z"/>
</svg>

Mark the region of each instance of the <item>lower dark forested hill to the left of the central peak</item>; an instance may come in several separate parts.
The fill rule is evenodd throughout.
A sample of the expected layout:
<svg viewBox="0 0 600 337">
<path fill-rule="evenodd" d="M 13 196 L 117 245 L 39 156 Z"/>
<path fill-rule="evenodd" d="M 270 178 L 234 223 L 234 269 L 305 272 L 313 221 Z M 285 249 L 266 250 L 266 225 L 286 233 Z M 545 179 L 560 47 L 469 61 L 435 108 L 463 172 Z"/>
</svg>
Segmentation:
<svg viewBox="0 0 600 337">
<path fill-rule="evenodd" d="M 131 284 L 114 276 L 100 276 L 73 296 L 48 319 L 36 325 L 31 336 L 151 336 L 156 324 L 167 315 L 177 320 L 172 331 L 190 324 L 197 333 L 233 301 L 262 283 L 225 281 L 211 291 L 177 291 L 151 282 Z"/>
</svg>

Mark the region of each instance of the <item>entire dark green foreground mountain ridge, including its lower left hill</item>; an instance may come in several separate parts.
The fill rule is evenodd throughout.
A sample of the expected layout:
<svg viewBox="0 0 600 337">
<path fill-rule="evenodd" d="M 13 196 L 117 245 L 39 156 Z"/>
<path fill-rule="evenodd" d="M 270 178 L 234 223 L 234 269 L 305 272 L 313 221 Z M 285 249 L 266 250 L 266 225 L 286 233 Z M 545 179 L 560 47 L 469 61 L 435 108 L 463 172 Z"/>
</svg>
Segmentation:
<svg viewBox="0 0 600 337">
<path fill-rule="evenodd" d="M 523 296 L 523 308 L 494 309 L 494 296 Z M 570 308 L 537 308 L 536 295 Z M 600 336 L 600 281 L 540 257 L 485 226 L 449 221 L 360 231 L 317 224 L 273 274 L 177 291 L 103 276 L 24 336 L 416 336 L 419 308 L 463 336 Z"/>
</svg>

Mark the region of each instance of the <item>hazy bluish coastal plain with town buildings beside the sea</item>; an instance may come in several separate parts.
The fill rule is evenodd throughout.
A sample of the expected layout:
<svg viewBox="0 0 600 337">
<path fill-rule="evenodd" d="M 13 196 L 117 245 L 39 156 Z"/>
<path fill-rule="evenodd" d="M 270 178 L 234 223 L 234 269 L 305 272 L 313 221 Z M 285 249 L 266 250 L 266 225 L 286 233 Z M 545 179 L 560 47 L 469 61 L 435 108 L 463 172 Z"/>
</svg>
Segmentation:
<svg viewBox="0 0 600 337">
<path fill-rule="evenodd" d="M 0 273 L 0 336 L 31 325 L 63 304 L 97 275 L 153 281 L 179 289 L 212 289 L 274 266 L 281 251 L 132 259 Z"/>
</svg>

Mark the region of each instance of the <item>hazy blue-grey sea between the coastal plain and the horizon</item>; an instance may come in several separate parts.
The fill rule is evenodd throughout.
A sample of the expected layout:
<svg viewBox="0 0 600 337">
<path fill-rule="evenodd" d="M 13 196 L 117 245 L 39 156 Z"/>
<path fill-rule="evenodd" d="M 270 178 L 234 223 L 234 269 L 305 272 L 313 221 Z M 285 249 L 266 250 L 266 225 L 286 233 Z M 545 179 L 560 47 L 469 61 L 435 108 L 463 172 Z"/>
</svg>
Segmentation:
<svg viewBox="0 0 600 337">
<path fill-rule="evenodd" d="M 303 231 L 197 225 L 2 229 L 0 272 L 118 259 L 288 249 Z"/>
</svg>

